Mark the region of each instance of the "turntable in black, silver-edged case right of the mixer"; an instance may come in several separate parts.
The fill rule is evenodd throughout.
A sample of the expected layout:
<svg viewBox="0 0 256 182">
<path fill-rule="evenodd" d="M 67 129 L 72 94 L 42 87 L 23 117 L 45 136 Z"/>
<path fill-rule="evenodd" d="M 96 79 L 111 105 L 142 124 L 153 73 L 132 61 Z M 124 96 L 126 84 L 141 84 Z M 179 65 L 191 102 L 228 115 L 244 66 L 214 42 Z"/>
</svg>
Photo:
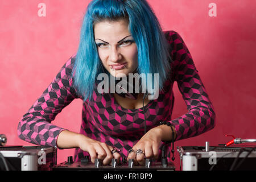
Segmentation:
<svg viewBox="0 0 256 182">
<path fill-rule="evenodd" d="M 256 171 L 256 145 L 177 146 L 183 171 Z"/>
</svg>

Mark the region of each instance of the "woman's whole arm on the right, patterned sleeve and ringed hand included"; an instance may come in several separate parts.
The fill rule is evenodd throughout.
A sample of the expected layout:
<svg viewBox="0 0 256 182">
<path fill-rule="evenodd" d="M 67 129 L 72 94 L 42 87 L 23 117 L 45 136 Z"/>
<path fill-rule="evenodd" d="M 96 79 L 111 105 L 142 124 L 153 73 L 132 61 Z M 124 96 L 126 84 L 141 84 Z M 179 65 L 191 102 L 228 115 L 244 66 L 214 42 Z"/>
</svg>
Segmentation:
<svg viewBox="0 0 256 182">
<path fill-rule="evenodd" d="M 161 141 L 172 140 L 172 130 L 174 140 L 195 137 L 215 126 L 215 113 L 212 103 L 204 88 L 198 71 L 193 64 L 192 57 L 185 46 L 185 43 L 174 31 L 166 32 L 168 43 L 170 44 L 170 54 L 172 57 L 172 71 L 174 78 L 185 104 L 188 113 L 172 121 L 167 121 L 171 126 L 160 125 L 149 130 L 133 147 L 144 151 L 144 155 L 136 155 L 130 152 L 127 159 L 136 159 L 138 163 L 144 163 L 144 156 L 158 158 L 159 144 Z"/>
</svg>

